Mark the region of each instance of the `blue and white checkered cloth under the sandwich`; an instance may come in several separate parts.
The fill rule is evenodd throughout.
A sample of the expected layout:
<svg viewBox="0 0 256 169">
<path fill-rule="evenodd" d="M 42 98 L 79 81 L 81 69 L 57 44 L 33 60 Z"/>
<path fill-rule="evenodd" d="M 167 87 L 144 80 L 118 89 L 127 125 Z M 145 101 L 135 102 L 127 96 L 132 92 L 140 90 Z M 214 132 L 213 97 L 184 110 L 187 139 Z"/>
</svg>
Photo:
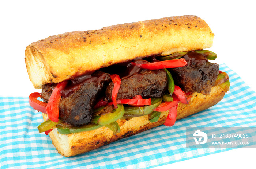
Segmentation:
<svg viewBox="0 0 256 169">
<path fill-rule="evenodd" d="M 217 105 L 176 122 L 123 138 L 75 157 L 57 153 L 50 137 L 39 134 L 42 114 L 28 98 L 0 97 L 0 167 L 4 168 L 151 168 L 223 152 L 226 148 L 185 148 L 185 127 L 256 126 L 256 94 L 225 64 L 230 91 Z M 255 144 L 255 143 L 254 143 Z"/>
</svg>

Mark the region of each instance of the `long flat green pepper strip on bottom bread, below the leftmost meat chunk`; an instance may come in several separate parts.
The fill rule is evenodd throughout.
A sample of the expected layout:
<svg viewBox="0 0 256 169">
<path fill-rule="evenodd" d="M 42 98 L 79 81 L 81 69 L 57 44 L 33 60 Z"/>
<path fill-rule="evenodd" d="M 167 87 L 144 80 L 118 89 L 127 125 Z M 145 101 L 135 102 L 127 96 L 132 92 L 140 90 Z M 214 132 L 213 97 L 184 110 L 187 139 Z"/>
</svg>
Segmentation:
<svg viewBox="0 0 256 169">
<path fill-rule="evenodd" d="M 60 134 L 70 134 L 70 133 L 79 133 L 83 131 L 91 131 L 102 127 L 101 125 L 97 124 L 88 124 L 81 127 L 71 127 L 71 128 L 65 128 L 65 127 L 57 127 L 57 130 Z"/>
</svg>

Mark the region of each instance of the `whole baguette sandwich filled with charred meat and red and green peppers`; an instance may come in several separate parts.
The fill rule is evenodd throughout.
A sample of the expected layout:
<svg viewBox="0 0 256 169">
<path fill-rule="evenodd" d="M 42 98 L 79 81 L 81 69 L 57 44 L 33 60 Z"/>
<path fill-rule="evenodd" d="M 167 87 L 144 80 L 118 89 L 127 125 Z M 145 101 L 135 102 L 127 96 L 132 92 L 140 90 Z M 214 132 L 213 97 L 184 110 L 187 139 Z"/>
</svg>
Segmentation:
<svg viewBox="0 0 256 169">
<path fill-rule="evenodd" d="M 25 50 L 41 93 L 40 133 L 63 156 L 99 148 L 217 104 L 229 76 L 209 62 L 214 34 L 197 16 L 174 16 L 49 36 Z M 41 98 L 41 100 L 40 100 Z"/>
</svg>

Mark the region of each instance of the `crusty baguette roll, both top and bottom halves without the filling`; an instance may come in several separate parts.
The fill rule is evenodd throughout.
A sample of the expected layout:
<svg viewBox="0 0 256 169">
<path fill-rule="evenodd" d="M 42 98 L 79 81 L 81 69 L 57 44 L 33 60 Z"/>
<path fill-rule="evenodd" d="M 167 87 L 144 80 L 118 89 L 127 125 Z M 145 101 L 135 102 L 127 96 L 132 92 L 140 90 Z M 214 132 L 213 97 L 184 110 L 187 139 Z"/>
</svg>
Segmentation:
<svg viewBox="0 0 256 169">
<path fill-rule="evenodd" d="M 27 46 L 25 62 L 33 86 L 39 89 L 44 84 L 58 83 L 140 57 L 208 48 L 213 38 L 206 22 L 197 16 L 166 17 L 50 36 Z M 225 90 L 214 86 L 210 95 L 191 95 L 189 104 L 179 103 L 177 119 L 217 104 Z M 161 112 L 159 120 L 153 123 L 148 121 L 148 115 L 117 120 L 121 131 L 116 135 L 107 127 L 72 134 L 60 134 L 53 129 L 49 135 L 60 154 L 74 156 L 162 125 L 168 113 Z M 43 118 L 46 121 L 47 114 L 43 113 Z"/>
</svg>

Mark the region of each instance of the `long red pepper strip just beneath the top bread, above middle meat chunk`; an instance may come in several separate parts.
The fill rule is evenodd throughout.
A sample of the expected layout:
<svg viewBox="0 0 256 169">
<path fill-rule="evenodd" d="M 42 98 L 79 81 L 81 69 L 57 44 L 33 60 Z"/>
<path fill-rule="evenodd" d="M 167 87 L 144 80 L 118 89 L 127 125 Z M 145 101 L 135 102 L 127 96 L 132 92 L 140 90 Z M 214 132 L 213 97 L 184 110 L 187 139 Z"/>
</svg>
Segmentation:
<svg viewBox="0 0 256 169">
<path fill-rule="evenodd" d="M 188 63 L 183 58 L 173 59 L 173 60 L 165 60 L 165 61 L 161 61 L 161 62 L 146 63 L 146 64 L 138 64 L 138 63 L 132 62 L 132 65 L 136 65 L 140 68 L 149 69 L 149 70 L 182 67 L 182 66 L 186 66 L 187 64 Z"/>
</svg>

